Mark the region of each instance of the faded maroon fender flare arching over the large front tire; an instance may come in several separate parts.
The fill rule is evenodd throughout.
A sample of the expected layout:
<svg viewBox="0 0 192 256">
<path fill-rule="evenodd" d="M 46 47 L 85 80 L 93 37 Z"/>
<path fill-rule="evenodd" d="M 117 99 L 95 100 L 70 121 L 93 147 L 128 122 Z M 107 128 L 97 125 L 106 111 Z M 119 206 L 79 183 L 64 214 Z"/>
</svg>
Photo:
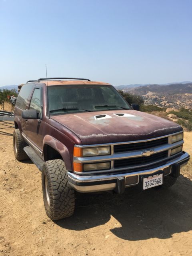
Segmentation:
<svg viewBox="0 0 192 256">
<path fill-rule="evenodd" d="M 45 144 L 54 148 L 54 150 L 56 150 L 62 156 L 62 159 L 66 164 L 67 170 L 72 170 L 70 153 L 68 151 L 68 148 L 62 142 L 50 135 L 46 135 L 43 139 L 43 152 Z"/>
</svg>

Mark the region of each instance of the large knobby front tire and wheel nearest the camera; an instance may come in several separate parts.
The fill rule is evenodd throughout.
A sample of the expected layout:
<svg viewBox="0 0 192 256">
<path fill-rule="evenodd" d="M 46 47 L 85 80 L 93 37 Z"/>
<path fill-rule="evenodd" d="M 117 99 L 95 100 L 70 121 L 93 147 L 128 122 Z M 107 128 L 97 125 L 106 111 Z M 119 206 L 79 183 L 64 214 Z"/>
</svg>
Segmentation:
<svg viewBox="0 0 192 256">
<path fill-rule="evenodd" d="M 75 193 L 68 184 L 67 170 L 61 159 L 45 162 L 42 170 L 42 190 L 46 214 L 51 220 L 73 215 Z"/>
</svg>

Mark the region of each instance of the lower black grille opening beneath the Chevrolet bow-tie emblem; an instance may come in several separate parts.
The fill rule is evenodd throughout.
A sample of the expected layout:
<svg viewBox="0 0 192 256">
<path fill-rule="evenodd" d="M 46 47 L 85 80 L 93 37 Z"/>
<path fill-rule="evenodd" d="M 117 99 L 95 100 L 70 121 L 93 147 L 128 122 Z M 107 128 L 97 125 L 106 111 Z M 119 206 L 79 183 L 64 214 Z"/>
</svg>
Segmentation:
<svg viewBox="0 0 192 256">
<path fill-rule="evenodd" d="M 168 150 L 153 154 L 151 156 L 141 156 L 141 157 L 115 160 L 114 168 L 121 168 L 124 166 L 127 166 L 127 167 L 133 166 L 134 168 L 134 166 L 150 164 L 150 163 L 152 164 L 153 162 L 156 162 L 158 160 L 163 160 L 163 158 L 166 158 L 167 156 L 168 156 Z"/>
</svg>

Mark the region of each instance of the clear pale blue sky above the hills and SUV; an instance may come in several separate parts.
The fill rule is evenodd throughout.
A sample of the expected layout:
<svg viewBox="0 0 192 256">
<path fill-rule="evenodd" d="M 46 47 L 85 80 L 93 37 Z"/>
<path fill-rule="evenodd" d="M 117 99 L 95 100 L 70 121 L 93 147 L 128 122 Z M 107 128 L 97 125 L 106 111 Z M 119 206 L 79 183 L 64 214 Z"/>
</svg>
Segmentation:
<svg viewBox="0 0 192 256">
<path fill-rule="evenodd" d="M 0 86 L 192 80 L 191 0 L 0 0 Z"/>
</svg>

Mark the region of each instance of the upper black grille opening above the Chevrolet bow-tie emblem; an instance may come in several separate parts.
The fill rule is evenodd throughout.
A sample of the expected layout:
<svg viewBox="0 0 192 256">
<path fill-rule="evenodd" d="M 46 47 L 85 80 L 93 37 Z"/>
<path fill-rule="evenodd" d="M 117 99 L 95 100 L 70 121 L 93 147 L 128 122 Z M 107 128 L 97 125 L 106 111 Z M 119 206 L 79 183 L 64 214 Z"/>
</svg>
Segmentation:
<svg viewBox="0 0 192 256">
<path fill-rule="evenodd" d="M 157 140 L 149 140 L 144 142 L 135 142 L 129 144 L 118 144 L 114 146 L 114 153 L 120 152 L 128 152 L 133 150 L 142 150 L 142 149 L 152 149 L 156 146 L 161 146 L 168 143 L 168 137 L 157 139 Z"/>
</svg>

